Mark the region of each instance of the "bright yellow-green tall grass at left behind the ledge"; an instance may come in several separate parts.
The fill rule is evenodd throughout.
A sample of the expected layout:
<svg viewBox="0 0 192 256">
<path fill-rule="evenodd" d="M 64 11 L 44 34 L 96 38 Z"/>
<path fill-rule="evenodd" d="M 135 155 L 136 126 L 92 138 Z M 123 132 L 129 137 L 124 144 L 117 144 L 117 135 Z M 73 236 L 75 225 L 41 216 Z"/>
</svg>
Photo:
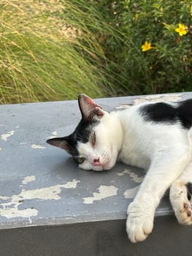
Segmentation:
<svg viewBox="0 0 192 256">
<path fill-rule="evenodd" d="M 99 70 L 77 50 L 80 42 L 74 29 L 66 29 L 63 11 L 58 1 L 0 1 L 1 104 L 107 91 L 96 78 Z"/>
</svg>

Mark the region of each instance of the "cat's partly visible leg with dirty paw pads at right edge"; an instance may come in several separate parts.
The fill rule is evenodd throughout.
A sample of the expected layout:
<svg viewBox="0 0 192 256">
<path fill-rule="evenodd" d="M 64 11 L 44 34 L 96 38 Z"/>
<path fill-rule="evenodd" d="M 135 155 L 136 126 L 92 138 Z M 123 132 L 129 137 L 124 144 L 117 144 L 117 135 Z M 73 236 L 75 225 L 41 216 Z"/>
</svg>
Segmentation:
<svg viewBox="0 0 192 256">
<path fill-rule="evenodd" d="M 181 176 L 174 181 L 170 188 L 170 200 L 174 214 L 178 222 L 183 225 L 192 224 L 191 211 L 191 193 L 192 193 L 192 160 L 185 168 Z"/>
</svg>

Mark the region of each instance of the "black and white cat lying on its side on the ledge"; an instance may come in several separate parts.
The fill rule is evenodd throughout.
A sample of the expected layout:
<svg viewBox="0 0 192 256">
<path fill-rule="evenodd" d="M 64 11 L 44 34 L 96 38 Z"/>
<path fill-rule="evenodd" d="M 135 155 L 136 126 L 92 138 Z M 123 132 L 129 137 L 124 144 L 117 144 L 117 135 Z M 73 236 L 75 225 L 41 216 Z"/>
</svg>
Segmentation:
<svg viewBox="0 0 192 256">
<path fill-rule="evenodd" d="M 128 238 L 147 238 L 155 208 L 169 187 L 178 222 L 191 225 L 192 99 L 144 103 L 111 113 L 85 94 L 78 102 L 82 119 L 74 132 L 47 143 L 66 150 L 85 170 L 108 170 L 117 160 L 147 170 L 128 206 Z"/>
</svg>

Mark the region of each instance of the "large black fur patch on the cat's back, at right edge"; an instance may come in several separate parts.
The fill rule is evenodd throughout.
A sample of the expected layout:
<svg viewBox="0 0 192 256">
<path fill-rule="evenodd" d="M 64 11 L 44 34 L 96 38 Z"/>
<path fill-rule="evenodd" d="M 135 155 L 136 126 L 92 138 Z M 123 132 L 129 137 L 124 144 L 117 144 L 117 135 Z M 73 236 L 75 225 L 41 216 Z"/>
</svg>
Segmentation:
<svg viewBox="0 0 192 256">
<path fill-rule="evenodd" d="M 140 108 L 140 113 L 146 121 L 166 122 L 174 124 L 180 121 L 184 129 L 192 126 L 192 99 L 186 99 L 175 105 L 157 102 Z"/>
</svg>

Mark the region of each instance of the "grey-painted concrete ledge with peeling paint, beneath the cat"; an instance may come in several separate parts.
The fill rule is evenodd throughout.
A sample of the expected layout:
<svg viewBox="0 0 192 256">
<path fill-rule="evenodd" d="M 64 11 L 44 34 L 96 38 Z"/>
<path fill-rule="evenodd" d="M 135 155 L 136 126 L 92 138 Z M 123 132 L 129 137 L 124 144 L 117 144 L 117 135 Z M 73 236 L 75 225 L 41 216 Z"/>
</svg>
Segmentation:
<svg viewBox="0 0 192 256">
<path fill-rule="evenodd" d="M 188 98 L 191 93 L 97 102 L 112 110 Z M 140 244 L 128 241 L 126 209 L 143 170 L 121 163 L 101 173 L 80 170 L 45 143 L 72 132 L 80 120 L 77 101 L 1 105 L 0 116 L 0 255 L 185 255 L 192 249 L 192 227 L 177 224 L 168 197 L 152 235 Z"/>
</svg>

